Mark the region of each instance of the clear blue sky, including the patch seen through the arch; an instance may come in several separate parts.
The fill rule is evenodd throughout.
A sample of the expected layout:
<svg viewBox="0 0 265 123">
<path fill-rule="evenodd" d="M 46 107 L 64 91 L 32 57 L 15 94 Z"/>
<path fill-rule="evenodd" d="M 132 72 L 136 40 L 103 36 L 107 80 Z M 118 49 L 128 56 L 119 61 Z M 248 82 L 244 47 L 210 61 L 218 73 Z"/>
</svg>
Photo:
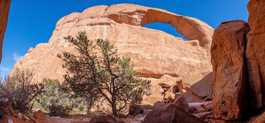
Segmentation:
<svg viewBox="0 0 265 123">
<path fill-rule="evenodd" d="M 9 73 L 16 60 L 22 59 L 30 47 L 35 48 L 39 43 L 47 43 L 56 22 L 61 17 L 72 12 L 82 12 L 92 6 L 130 3 L 160 8 L 198 18 L 216 28 L 221 22 L 232 19 L 242 19 L 247 22 L 248 2 L 248 0 L 12 0 L 0 71 L 2 74 Z M 144 27 L 182 37 L 169 24 L 153 23 Z"/>
</svg>

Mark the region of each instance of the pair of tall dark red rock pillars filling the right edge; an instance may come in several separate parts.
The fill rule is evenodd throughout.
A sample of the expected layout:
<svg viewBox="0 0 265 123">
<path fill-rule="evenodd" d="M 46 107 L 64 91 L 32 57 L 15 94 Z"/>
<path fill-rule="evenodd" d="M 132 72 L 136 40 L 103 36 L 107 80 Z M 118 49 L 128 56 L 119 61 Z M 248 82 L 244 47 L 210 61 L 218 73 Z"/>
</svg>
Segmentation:
<svg viewBox="0 0 265 123">
<path fill-rule="evenodd" d="M 264 111 L 265 1 L 250 0 L 248 10 L 249 24 L 232 20 L 222 23 L 213 34 L 215 118 L 242 120 Z M 263 119 L 257 118 L 260 121 Z"/>
</svg>

